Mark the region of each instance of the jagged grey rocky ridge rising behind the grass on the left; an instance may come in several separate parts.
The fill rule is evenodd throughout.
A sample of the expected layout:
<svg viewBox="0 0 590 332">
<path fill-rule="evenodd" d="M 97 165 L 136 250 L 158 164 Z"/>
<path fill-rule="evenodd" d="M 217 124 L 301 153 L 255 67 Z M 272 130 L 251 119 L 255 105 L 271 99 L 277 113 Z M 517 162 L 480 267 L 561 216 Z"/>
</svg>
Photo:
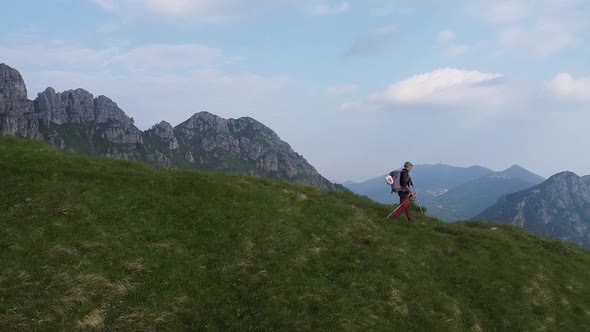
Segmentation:
<svg viewBox="0 0 590 332">
<path fill-rule="evenodd" d="M 162 121 L 141 131 L 115 102 L 83 89 L 47 88 L 31 101 L 20 73 L 5 64 L 0 64 L 0 135 L 159 167 L 246 173 L 345 190 L 252 118 L 226 120 L 200 112 L 176 127 Z"/>
</svg>

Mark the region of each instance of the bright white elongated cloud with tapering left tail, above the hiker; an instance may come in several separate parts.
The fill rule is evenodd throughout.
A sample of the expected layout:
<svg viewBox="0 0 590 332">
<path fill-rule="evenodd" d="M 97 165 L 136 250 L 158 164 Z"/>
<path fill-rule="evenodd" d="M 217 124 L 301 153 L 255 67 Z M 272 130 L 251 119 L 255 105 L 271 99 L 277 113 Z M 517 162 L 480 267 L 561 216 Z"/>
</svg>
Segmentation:
<svg viewBox="0 0 590 332">
<path fill-rule="evenodd" d="M 462 126 L 481 125 L 490 117 L 522 105 L 522 98 L 512 91 L 513 86 L 519 85 L 509 86 L 504 81 L 501 74 L 441 68 L 395 82 L 362 100 L 342 103 L 340 110 L 375 112 L 413 109 L 440 114 L 452 111 L 461 114 Z M 525 90 L 523 88 L 520 92 Z"/>
</svg>

